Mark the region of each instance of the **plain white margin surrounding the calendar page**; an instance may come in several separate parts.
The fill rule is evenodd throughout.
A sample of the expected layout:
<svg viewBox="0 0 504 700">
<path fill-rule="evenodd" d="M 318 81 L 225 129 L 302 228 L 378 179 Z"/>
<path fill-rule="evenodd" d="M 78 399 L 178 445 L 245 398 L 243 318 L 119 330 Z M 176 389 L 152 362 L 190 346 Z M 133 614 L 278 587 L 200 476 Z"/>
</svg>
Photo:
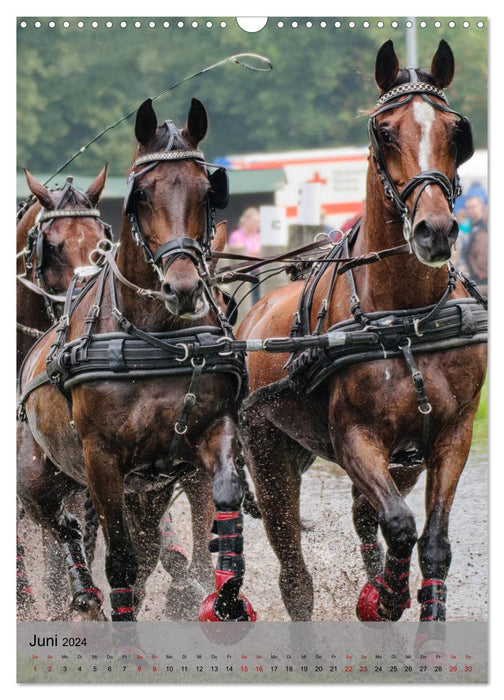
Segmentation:
<svg viewBox="0 0 504 700">
<path fill-rule="evenodd" d="M 133 3 L 130 3 L 133 5 Z M 497 206 L 492 206 L 492 202 L 498 201 L 499 187 L 502 183 L 502 176 L 499 175 L 497 169 L 497 163 L 499 156 L 503 153 L 503 137 L 499 134 L 499 122 L 502 122 L 502 116 L 497 119 L 497 113 L 501 115 L 502 98 L 499 97 L 500 85 L 497 84 L 495 76 L 500 74 L 500 68 L 504 66 L 504 42 L 502 41 L 503 27 L 502 22 L 503 12 L 502 10 L 496 8 L 495 2 L 468 2 L 467 0 L 458 0 L 457 3 L 453 3 L 450 7 L 450 12 L 446 14 L 451 14 L 455 16 L 484 16 L 489 17 L 489 62 L 490 62 L 490 128 L 489 128 L 489 143 L 491 144 L 490 150 L 490 230 L 494 231 L 496 235 L 494 240 L 492 240 L 492 255 L 491 255 L 491 280 L 498 279 L 498 272 L 496 261 L 504 259 L 504 233 L 501 231 L 502 222 L 500 217 L 498 217 Z M 299 0 L 270 0 L 266 2 L 265 0 L 255 0 L 254 3 L 242 2 L 241 0 L 215 0 L 211 5 L 206 2 L 196 2 L 190 1 L 186 2 L 182 6 L 184 16 L 227 16 L 227 17 L 267 17 L 267 16 L 339 16 L 339 6 L 334 2 L 310 2 L 308 6 L 303 5 Z M 3 82 L 3 92 L 4 95 L 8 95 L 8 100 L 4 103 L 7 104 L 7 114 L 4 115 L 2 119 L 2 125 L 4 129 L 4 146 L 8 148 L 7 160 L 2 164 L 2 186 L 5 200 L 7 203 L 13 203 L 15 201 L 15 186 L 14 177 L 15 172 L 15 140 L 10 135 L 15 133 L 15 71 L 13 67 L 15 65 L 15 18 L 16 16 L 58 16 L 58 15 L 68 15 L 69 9 L 73 10 L 72 14 L 75 16 L 115 16 L 117 12 L 117 2 L 115 3 L 103 3 L 96 2 L 95 0 L 89 0 L 85 3 L 85 14 L 79 12 L 77 6 L 69 7 L 68 2 L 62 2 L 61 0 L 49 2 L 46 4 L 41 4 L 40 1 L 35 3 L 31 0 L 21 0 L 16 4 L 15 8 L 5 9 L 2 13 L 2 22 L 0 23 L 1 31 L 1 46 L 2 46 L 2 58 L 4 59 L 4 70 L 2 76 Z M 108 9 L 108 11 L 107 11 Z M 134 7 L 129 7 L 124 5 L 121 6 L 121 14 L 137 15 L 138 13 L 134 10 L 137 9 L 137 4 Z M 142 16 L 148 14 L 149 16 L 173 16 L 174 12 L 171 10 L 176 10 L 176 7 L 167 7 L 166 2 L 160 2 L 159 0 L 153 0 L 142 5 L 143 13 L 138 14 Z M 209 12 L 211 9 L 211 12 Z M 421 7 L 414 8 L 416 14 L 422 16 L 439 16 L 440 9 L 448 9 L 444 6 L 441 7 L 439 0 L 434 2 L 433 0 L 424 0 L 421 3 Z M 387 1 L 382 7 L 372 4 L 370 2 L 354 2 L 352 3 L 351 13 L 352 17 L 359 16 L 398 16 L 404 17 L 408 14 L 408 7 L 405 6 L 404 0 L 401 2 L 393 0 Z M 500 75 L 499 75 L 500 78 Z M 14 164 L 14 165 L 13 165 Z M 7 207 L 8 216 L 8 207 Z M 3 231 L 2 235 L 6 236 L 9 232 Z M 12 239 L 12 241 L 11 241 Z M 13 242 L 14 237 L 9 238 L 9 242 L 4 246 L 5 250 L 11 251 L 9 247 L 10 243 Z M 4 259 L 2 260 L 2 272 L 0 275 L 1 280 L 1 293 L 2 299 L 8 298 L 7 308 L 12 310 L 14 308 L 14 295 L 12 284 L 12 279 L 10 277 L 10 271 L 12 268 L 11 261 L 13 256 L 8 257 L 4 253 Z M 493 273 L 493 274 L 492 274 Z M 496 288 L 497 285 L 492 285 L 492 302 L 491 305 L 491 328 L 495 332 L 495 337 L 492 334 L 494 342 L 499 340 L 499 324 L 492 323 L 494 320 L 494 314 L 492 309 L 498 306 L 498 302 L 502 299 L 502 289 Z M 13 316 L 14 314 L 12 314 Z M 14 328 L 13 318 L 9 315 L 9 319 L 12 319 L 12 328 Z M 5 316 L 4 316 L 5 322 Z M 14 336 L 14 333 L 12 334 Z M 4 371 L 8 371 L 9 367 L 14 367 L 14 352 L 12 350 L 12 343 L 8 344 L 7 348 L 2 348 L 1 351 L 1 366 Z M 12 364 L 11 364 L 12 363 Z M 499 454 L 496 452 L 495 445 L 492 444 L 492 432 L 493 428 L 497 426 L 497 420 L 500 416 L 498 415 L 499 407 L 494 401 L 494 397 L 497 397 L 499 393 L 499 388 L 504 386 L 504 378 L 502 376 L 502 370 L 499 368 L 498 364 L 493 361 L 492 352 L 492 341 L 490 343 L 490 371 L 491 371 L 491 384 L 492 389 L 490 392 L 490 464 L 491 464 L 491 499 L 490 499 L 490 510 L 491 510 L 491 533 L 490 537 L 490 683 L 488 686 L 474 686 L 461 687 L 457 685 L 456 687 L 443 688 L 444 697 L 449 698 L 451 692 L 457 693 L 457 698 L 463 698 L 466 695 L 471 697 L 475 692 L 487 694 L 490 693 L 491 697 L 496 694 L 496 691 L 504 687 L 502 680 L 502 674 L 499 672 L 499 668 L 502 666 L 502 660 L 500 658 L 500 647 L 502 646 L 502 630 L 504 629 L 503 623 L 503 613 L 502 605 L 499 604 L 498 597 L 500 595 L 502 581 L 503 581 L 503 564 L 502 564 L 502 548 L 501 548 L 501 537 L 500 533 L 504 531 L 504 523 L 502 522 L 502 507 L 500 506 L 496 496 L 499 493 L 504 492 L 504 470 L 500 464 L 502 460 L 499 460 Z M 8 377 L 10 380 L 10 377 Z M 98 697 L 102 693 L 110 693 L 112 688 L 118 688 L 121 692 L 122 698 L 137 697 L 138 693 L 141 692 L 141 686 L 75 686 L 72 685 L 71 688 L 67 686 L 50 686 L 50 687 L 40 687 L 35 685 L 29 686 L 19 686 L 15 685 L 15 636 L 16 636 L 16 623 L 15 623 L 15 591 L 14 586 L 10 580 L 10 575 L 13 577 L 13 564 L 11 566 L 11 560 L 14 562 L 13 555 L 13 543 L 15 534 L 15 499 L 13 494 L 15 493 L 15 470 L 13 465 L 15 464 L 15 449 L 13 445 L 13 435 L 14 435 L 14 420 L 13 417 L 13 407 L 15 406 L 14 390 L 12 389 L 12 384 L 9 384 L 9 392 L 7 395 L 7 401 L 5 401 L 3 407 L 3 430 L 2 430 L 2 444 L 4 446 L 4 452 L 6 455 L 3 460 L 3 471 L 4 474 L 8 472 L 9 477 L 7 481 L 7 489 L 3 489 L 4 502 L 2 503 L 3 512 L 3 522 L 7 525 L 4 529 L 4 537 L 2 538 L 2 559 L 3 571 L 8 572 L 8 575 L 4 575 L 4 580 L 1 584 L 1 593 L 3 601 L 3 661 L 4 661 L 4 676 L 2 677 L 2 686 L 5 691 L 9 693 L 9 696 L 15 695 L 16 697 L 30 697 L 33 695 L 37 697 L 51 697 L 60 694 L 67 695 L 71 693 L 72 698 L 80 698 L 81 696 L 86 696 L 89 693 L 98 693 Z M 12 420 L 12 423 L 10 422 Z M 496 429 L 497 434 L 498 428 Z M 5 502 L 6 501 L 6 502 Z M 500 550 L 500 551 L 499 551 Z M 499 677 L 500 676 L 500 677 Z M 240 698 L 252 697 L 257 692 L 260 692 L 262 696 L 269 697 L 269 695 L 275 693 L 278 694 L 280 688 L 277 686 L 264 686 L 257 685 L 253 686 L 243 686 L 243 685 L 233 685 L 233 686 L 207 686 L 207 685 L 195 685 L 195 686 L 184 686 L 186 692 L 189 689 L 194 689 L 195 692 L 199 692 L 206 698 L 221 697 L 223 689 L 225 689 L 226 694 L 229 694 L 231 688 L 236 689 L 239 693 Z M 309 686 L 288 686 L 288 692 L 293 697 L 305 694 Z M 372 693 L 376 697 L 377 687 L 366 684 L 363 687 L 355 687 L 344 685 L 340 687 L 339 684 L 335 688 L 334 685 L 317 685 L 317 693 L 320 693 L 322 697 L 331 694 L 334 695 L 335 692 L 349 693 L 348 697 L 352 699 L 354 697 L 369 697 Z M 171 693 L 180 692 L 179 688 L 175 686 L 153 686 L 149 685 L 149 693 Z M 403 695 L 405 692 L 408 696 L 415 697 L 417 694 L 421 693 L 422 698 L 425 697 L 426 693 L 429 692 L 428 686 L 408 686 L 404 685 L 398 687 L 394 686 L 383 686 L 379 689 L 378 697 L 382 697 L 385 693 L 387 698 L 393 697 L 395 693 L 400 693 Z"/>
</svg>

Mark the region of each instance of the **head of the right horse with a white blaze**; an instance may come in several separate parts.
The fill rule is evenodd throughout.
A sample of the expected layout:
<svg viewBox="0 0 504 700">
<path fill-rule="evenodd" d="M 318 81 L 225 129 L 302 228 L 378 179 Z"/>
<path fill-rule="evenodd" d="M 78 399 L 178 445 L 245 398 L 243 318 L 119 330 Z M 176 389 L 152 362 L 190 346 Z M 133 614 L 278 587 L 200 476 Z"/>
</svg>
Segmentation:
<svg viewBox="0 0 504 700">
<path fill-rule="evenodd" d="M 447 262 L 457 239 L 457 167 L 473 153 L 469 121 L 449 108 L 443 92 L 454 71 L 443 40 L 429 73 L 400 69 L 387 41 L 376 58 L 381 96 L 369 122 L 374 161 L 404 236 L 417 258 L 434 267 Z"/>
</svg>

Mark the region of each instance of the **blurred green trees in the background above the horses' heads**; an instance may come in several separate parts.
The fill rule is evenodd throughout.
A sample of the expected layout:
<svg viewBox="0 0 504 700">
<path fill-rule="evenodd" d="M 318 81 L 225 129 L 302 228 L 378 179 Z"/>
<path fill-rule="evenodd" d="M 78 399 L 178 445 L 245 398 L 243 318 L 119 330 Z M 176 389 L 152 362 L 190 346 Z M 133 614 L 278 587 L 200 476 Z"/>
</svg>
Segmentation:
<svg viewBox="0 0 504 700">
<path fill-rule="evenodd" d="M 68 28 L 63 26 L 67 19 Z M 204 143 L 208 159 L 227 154 L 287 151 L 367 143 L 359 110 L 375 103 L 373 71 L 376 51 L 394 41 L 406 63 L 405 19 L 270 18 L 257 33 L 240 29 L 235 19 L 120 17 L 18 19 L 17 154 L 18 167 L 34 173 L 53 172 L 102 129 L 136 109 L 182 78 L 236 53 L 259 53 L 273 64 L 270 72 L 248 71 L 225 64 L 169 92 L 154 103 L 159 121 L 181 125 L 191 97 L 206 106 L 210 132 Z M 417 18 L 417 25 L 422 18 Z M 463 18 L 443 18 L 436 28 L 417 29 L 418 63 L 430 65 L 441 38 L 455 54 L 456 74 L 447 93 L 451 105 L 473 123 L 477 148 L 487 145 L 487 30 L 470 28 Z M 26 26 L 21 28 L 21 20 Z M 320 23 L 326 21 L 327 26 Z M 155 23 L 149 26 L 149 21 Z M 197 21 L 198 27 L 191 23 Z M 278 22 L 284 26 L 279 28 Z M 306 22 L 312 23 L 311 27 Z M 183 27 L 178 23 L 182 22 Z M 111 175 L 123 175 L 134 149 L 133 119 L 111 130 L 79 157 L 72 173 L 96 173 L 109 163 Z"/>
</svg>

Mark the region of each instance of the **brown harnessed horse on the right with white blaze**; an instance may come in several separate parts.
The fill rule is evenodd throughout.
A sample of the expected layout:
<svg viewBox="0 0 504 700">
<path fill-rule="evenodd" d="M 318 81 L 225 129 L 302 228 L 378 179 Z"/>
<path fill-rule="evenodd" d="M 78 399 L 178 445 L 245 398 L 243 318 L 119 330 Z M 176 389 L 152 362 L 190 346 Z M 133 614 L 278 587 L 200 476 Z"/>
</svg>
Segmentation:
<svg viewBox="0 0 504 700">
<path fill-rule="evenodd" d="M 334 337 L 345 333 L 348 346 L 295 359 L 258 352 L 248 360 L 252 393 L 242 410 L 242 438 L 294 620 L 310 619 L 313 608 L 299 496 L 315 455 L 340 464 L 352 480 L 363 552 L 377 553 L 378 525 L 387 545 L 385 562 L 379 552 L 366 562 L 372 580 L 359 597 L 358 617 L 397 620 L 409 607 L 417 544 L 420 619 L 445 619 L 449 514 L 486 371 L 484 301 L 470 297 L 471 281 L 449 261 L 458 233 L 457 166 L 473 150 L 467 119 L 449 108 L 443 92 L 453 74 L 444 41 L 430 73 L 400 70 L 392 42 L 381 47 L 360 227 L 304 281 L 266 295 L 238 330 L 239 338 L 264 339 L 325 328 Z M 460 320 L 474 320 L 480 309 L 481 333 Z M 445 315 L 458 319 L 451 330 Z M 353 354 L 351 331 L 367 339 Z M 408 453 L 416 456 L 413 466 L 389 469 L 407 465 Z M 401 490 L 412 488 L 424 466 L 426 522 L 417 539 Z"/>
</svg>

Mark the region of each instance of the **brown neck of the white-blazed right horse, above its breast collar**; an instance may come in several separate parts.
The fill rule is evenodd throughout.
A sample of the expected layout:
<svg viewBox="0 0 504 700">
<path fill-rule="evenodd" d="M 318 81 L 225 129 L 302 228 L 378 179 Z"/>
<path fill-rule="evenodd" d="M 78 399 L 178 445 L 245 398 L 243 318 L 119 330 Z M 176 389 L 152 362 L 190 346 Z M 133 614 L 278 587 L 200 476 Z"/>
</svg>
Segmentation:
<svg viewBox="0 0 504 700">
<path fill-rule="evenodd" d="M 385 199 L 371 163 L 365 213 L 354 252 L 379 252 L 404 243 L 402 221 Z M 401 253 L 357 268 L 355 280 L 364 310 L 407 309 L 436 303 L 446 289 L 448 270 L 446 266 L 424 265 L 414 253 Z"/>
</svg>

